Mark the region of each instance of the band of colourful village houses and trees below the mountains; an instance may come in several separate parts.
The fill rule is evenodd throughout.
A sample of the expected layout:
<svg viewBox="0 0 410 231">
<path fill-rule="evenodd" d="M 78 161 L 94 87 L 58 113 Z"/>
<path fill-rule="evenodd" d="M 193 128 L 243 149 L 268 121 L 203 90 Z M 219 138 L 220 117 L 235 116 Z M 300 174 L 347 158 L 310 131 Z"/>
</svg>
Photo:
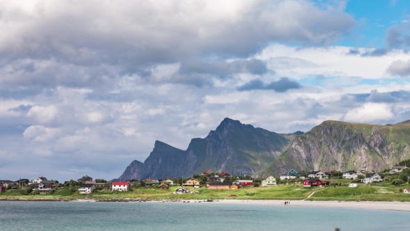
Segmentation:
<svg viewBox="0 0 410 231">
<path fill-rule="evenodd" d="M 60 189 L 69 189 L 71 194 L 78 192 L 79 195 L 90 195 L 99 192 L 126 192 L 133 189 L 158 189 L 170 191 L 172 194 L 200 193 L 199 189 L 232 191 L 229 197 L 236 196 L 234 191 L 243 188 L 272 187 L 280 185 L 302 185 L 308 187 L 322 186 L 342 186 L 341 183 L 334 183 L 334 180 L 345 180 L 349 188 L 356 188 L 358 185 L 368 185 L 383 183 L 385 180 L 396 186 L 404 186 L 410 180 L 410 168 L 407 166 L 395 166 L 391 170 L 383 173 L 374 173 L 366 170 L 347 170 L 343 173 L 336 170 L 323 172 L 313 170 L 310 172 L 296 171 L 290 169 L 288 172 L 274 177 L 268 175 L 263 178 L 252 178 L 249 176 L 232 176 L 227 172 L 217 172 L 214 170 L 202 170 L 200 175 L 193 175 L 188 179 L 165 177 L 164 179 L 129 179 L 125 182 L 93 180 L 85 175 L 78 180 L 59 182 L 49 180 L 47 177 L 36 177 L 33 180 L 19 179 L 0 180 L 0 194 L 7 195 L 8 191 L 16 191 L 22 195 L 53 194 Z M 410 193 L 410 187 L 402 189 L 402 193 Z"/>
</svg>

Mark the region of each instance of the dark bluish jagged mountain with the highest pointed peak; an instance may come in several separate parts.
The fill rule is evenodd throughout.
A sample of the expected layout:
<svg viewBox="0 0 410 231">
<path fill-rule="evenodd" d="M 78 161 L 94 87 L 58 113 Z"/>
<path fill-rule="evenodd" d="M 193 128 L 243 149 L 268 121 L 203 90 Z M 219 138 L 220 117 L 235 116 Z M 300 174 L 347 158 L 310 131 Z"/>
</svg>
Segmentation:
<svg viewBox="0 0 410 231">
<path fill-rule="evenodd" d="M 301 133 L 277 134 L 225 118 L 206 138 L 192 138 L 186 150 L 156 141 L 143 166 L 133 161 L 119 179 L 188 177 L 207 169 L 252 175 L 272 163 Z"/>
</svg>

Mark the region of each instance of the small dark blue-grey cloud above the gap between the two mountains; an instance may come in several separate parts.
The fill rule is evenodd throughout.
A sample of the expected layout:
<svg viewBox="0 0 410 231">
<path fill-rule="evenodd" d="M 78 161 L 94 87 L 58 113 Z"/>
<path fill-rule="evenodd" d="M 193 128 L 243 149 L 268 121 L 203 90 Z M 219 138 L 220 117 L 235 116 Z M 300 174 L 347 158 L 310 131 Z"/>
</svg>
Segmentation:
<svg viewBox="0 0 410 231">
<path fill-rule="evenodd" d="M 302 88 L 300 83 L 296 81 L 292 81 L 288 78 L 281 78 L 278 81 L 272 81 L 269 84 L 263 83 L 259 79 L 255 79 L 249 81 L 249 83 L 245 83 L 243 86 L 239 86 L 237 89 L 239 91 L 243 90 L 274 90 L 278 93 L 284 93 L 290 89 L 298 89 Z"/>
</svg>

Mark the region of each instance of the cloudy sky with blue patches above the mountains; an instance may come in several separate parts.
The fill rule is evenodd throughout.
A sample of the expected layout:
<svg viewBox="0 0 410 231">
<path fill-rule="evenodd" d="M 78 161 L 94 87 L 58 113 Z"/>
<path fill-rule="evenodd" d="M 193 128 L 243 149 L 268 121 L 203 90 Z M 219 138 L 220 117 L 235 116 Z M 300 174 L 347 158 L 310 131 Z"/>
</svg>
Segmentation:
<svg viewBox="0 0 410 231">
<path fill-rule="evenodd" d="M 410 120 L 410 3 L 1 1 L 0 179 L 119 177 L 224 118 Z"/>
</svg>

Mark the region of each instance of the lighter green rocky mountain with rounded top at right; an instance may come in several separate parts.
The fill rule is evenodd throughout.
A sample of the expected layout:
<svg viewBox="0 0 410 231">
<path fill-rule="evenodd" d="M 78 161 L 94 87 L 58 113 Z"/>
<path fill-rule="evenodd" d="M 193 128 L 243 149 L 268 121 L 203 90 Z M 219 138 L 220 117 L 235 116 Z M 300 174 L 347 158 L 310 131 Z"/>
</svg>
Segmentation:
<svg viewBox="0 0 410 231">
<path fill-rule="evenodd" d="M 297 136 L 287 150 L 254 177 L 290 169 L 384 170 L 410 158 L 410 121 L 368 125 L 325 121 Z"/>
</svg>

